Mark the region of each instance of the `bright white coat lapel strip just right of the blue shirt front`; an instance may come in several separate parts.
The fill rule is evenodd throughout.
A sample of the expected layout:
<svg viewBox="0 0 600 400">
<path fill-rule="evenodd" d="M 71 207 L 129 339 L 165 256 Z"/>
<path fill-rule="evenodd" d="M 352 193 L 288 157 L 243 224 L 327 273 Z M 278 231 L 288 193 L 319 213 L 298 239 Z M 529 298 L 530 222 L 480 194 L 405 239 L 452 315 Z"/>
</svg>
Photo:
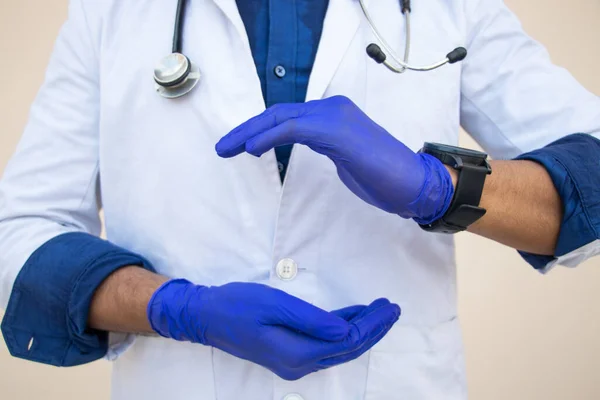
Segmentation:
<svg viewBox="0 0 600 400">
<path fill-rule="evenodd" d="M 361 15 L 358 0 L 330 0 L 306 101 L 320 99 L 325 93 L 356 34 Z"/>
</svg>

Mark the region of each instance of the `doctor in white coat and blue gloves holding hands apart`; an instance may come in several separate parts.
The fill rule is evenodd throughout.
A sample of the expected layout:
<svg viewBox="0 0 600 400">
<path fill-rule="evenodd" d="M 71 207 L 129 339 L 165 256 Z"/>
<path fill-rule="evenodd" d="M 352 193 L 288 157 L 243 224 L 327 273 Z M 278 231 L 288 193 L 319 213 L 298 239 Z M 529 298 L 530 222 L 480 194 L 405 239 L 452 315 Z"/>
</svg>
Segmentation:
<svg viewBox="0 0 600 400">
<path fill-rule="evenodd" d="M 500 0 L 415 1 L 408 61 L 468 56 L 401 74 L 358 0 L 190 0 L 157 93 L 175 3 L 71 1 L 0 183 L 14 356 L 106 356 L 116 400 L 464 399 L 448 233 L 600 251 L 600 100 Z M 402 53 L 410 4 L 365 5 Z"/>
</svg>

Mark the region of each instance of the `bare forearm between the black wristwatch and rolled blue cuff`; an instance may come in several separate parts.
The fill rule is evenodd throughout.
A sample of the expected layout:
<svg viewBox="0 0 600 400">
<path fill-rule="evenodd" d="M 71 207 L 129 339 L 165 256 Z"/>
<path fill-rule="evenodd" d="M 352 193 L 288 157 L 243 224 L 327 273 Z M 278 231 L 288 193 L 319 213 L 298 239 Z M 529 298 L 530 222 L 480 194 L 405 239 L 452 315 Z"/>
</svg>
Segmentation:
<svg viewBox="0 0 600 400">
<path fill-rule="evenodd" d="M 563 210 L 546 169 L 533 161 L 490 165 L 480 202 L 487 212 L 468 230 L 518 250 L 553 255 Z"/>
</svg>

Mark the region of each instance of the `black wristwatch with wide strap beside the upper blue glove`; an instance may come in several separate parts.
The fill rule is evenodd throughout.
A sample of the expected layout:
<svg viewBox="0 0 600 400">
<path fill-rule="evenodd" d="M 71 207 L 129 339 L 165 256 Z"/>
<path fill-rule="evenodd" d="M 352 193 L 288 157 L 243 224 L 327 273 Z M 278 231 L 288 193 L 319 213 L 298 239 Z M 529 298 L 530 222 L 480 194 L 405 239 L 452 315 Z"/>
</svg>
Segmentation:
<svg viewBox="0 0 600 400">
<path fill-rule="evenodd" d="M 421 225 L 421 228 L 430 232 L 456 233 L 464 231 L 485 215 L 486 210 L 479 207 L 479 201 L 485 178 L 492 173 L 487 154 L 439 143 L 425 143 L 419 153 L 430 154 L 458 171 L 448 211 L 431 224 Z"/>
</svg>

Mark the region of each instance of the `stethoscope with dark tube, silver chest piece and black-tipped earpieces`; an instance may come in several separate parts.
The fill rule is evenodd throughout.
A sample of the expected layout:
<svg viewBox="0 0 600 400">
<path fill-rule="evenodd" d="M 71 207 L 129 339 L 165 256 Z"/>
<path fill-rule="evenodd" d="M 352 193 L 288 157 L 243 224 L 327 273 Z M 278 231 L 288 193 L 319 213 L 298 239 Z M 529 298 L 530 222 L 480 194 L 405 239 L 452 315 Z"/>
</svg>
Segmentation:
<svg viewBox="0 0 600 400">
<path fill-rule="evenodd" d="M 400 0 L 400 7 L 402 15 L 405 18 L 405 30 L 406 30 L 406 44 L 404 48 L 404 59 L 396 55 L 391 46 L 379 33 L 369 11 L 365 6 L 364 0 L 358 0 L 360 7 L 375 35 L 377 41 L 385 49 L 386 53 L 381 50 L 375 43 L 371 43 L 367 46 L 367 54 L 378 64 L 385 65 L 390 71 L 401 74 L 406 70 L 411 71 L 432 71 L 440 68 L 446 64 L 454 64 L 462 61 L 467 56 L 467 49 L 464 47 L 457 47 L 446 55 L 446 57 L 434 64 L 425 66 L 415 66 L 408 63 L 408 57 L 410 55 L 410 13 L 411 6 L 410 0 Z M 185 8 L 187 0 L 177 1 L 177 12 L 175 15 L 175 30 L 173 33 L 173 49 L 172 53 L 163 58 L 160 63 L 154 69 L 154 82 L 156 84 L 156 91 L 159 95 L 167 99 L 174 99 L 177 97 L 188 94 L 200 81 L 200 69 L 198 66 L 191 61 L 182 52 L 181 38 L 183 32 L 183 23 L 185 21 Z M 390 63 L 387 58 L 388 56 L 393 60 Z"/>
</svg>

